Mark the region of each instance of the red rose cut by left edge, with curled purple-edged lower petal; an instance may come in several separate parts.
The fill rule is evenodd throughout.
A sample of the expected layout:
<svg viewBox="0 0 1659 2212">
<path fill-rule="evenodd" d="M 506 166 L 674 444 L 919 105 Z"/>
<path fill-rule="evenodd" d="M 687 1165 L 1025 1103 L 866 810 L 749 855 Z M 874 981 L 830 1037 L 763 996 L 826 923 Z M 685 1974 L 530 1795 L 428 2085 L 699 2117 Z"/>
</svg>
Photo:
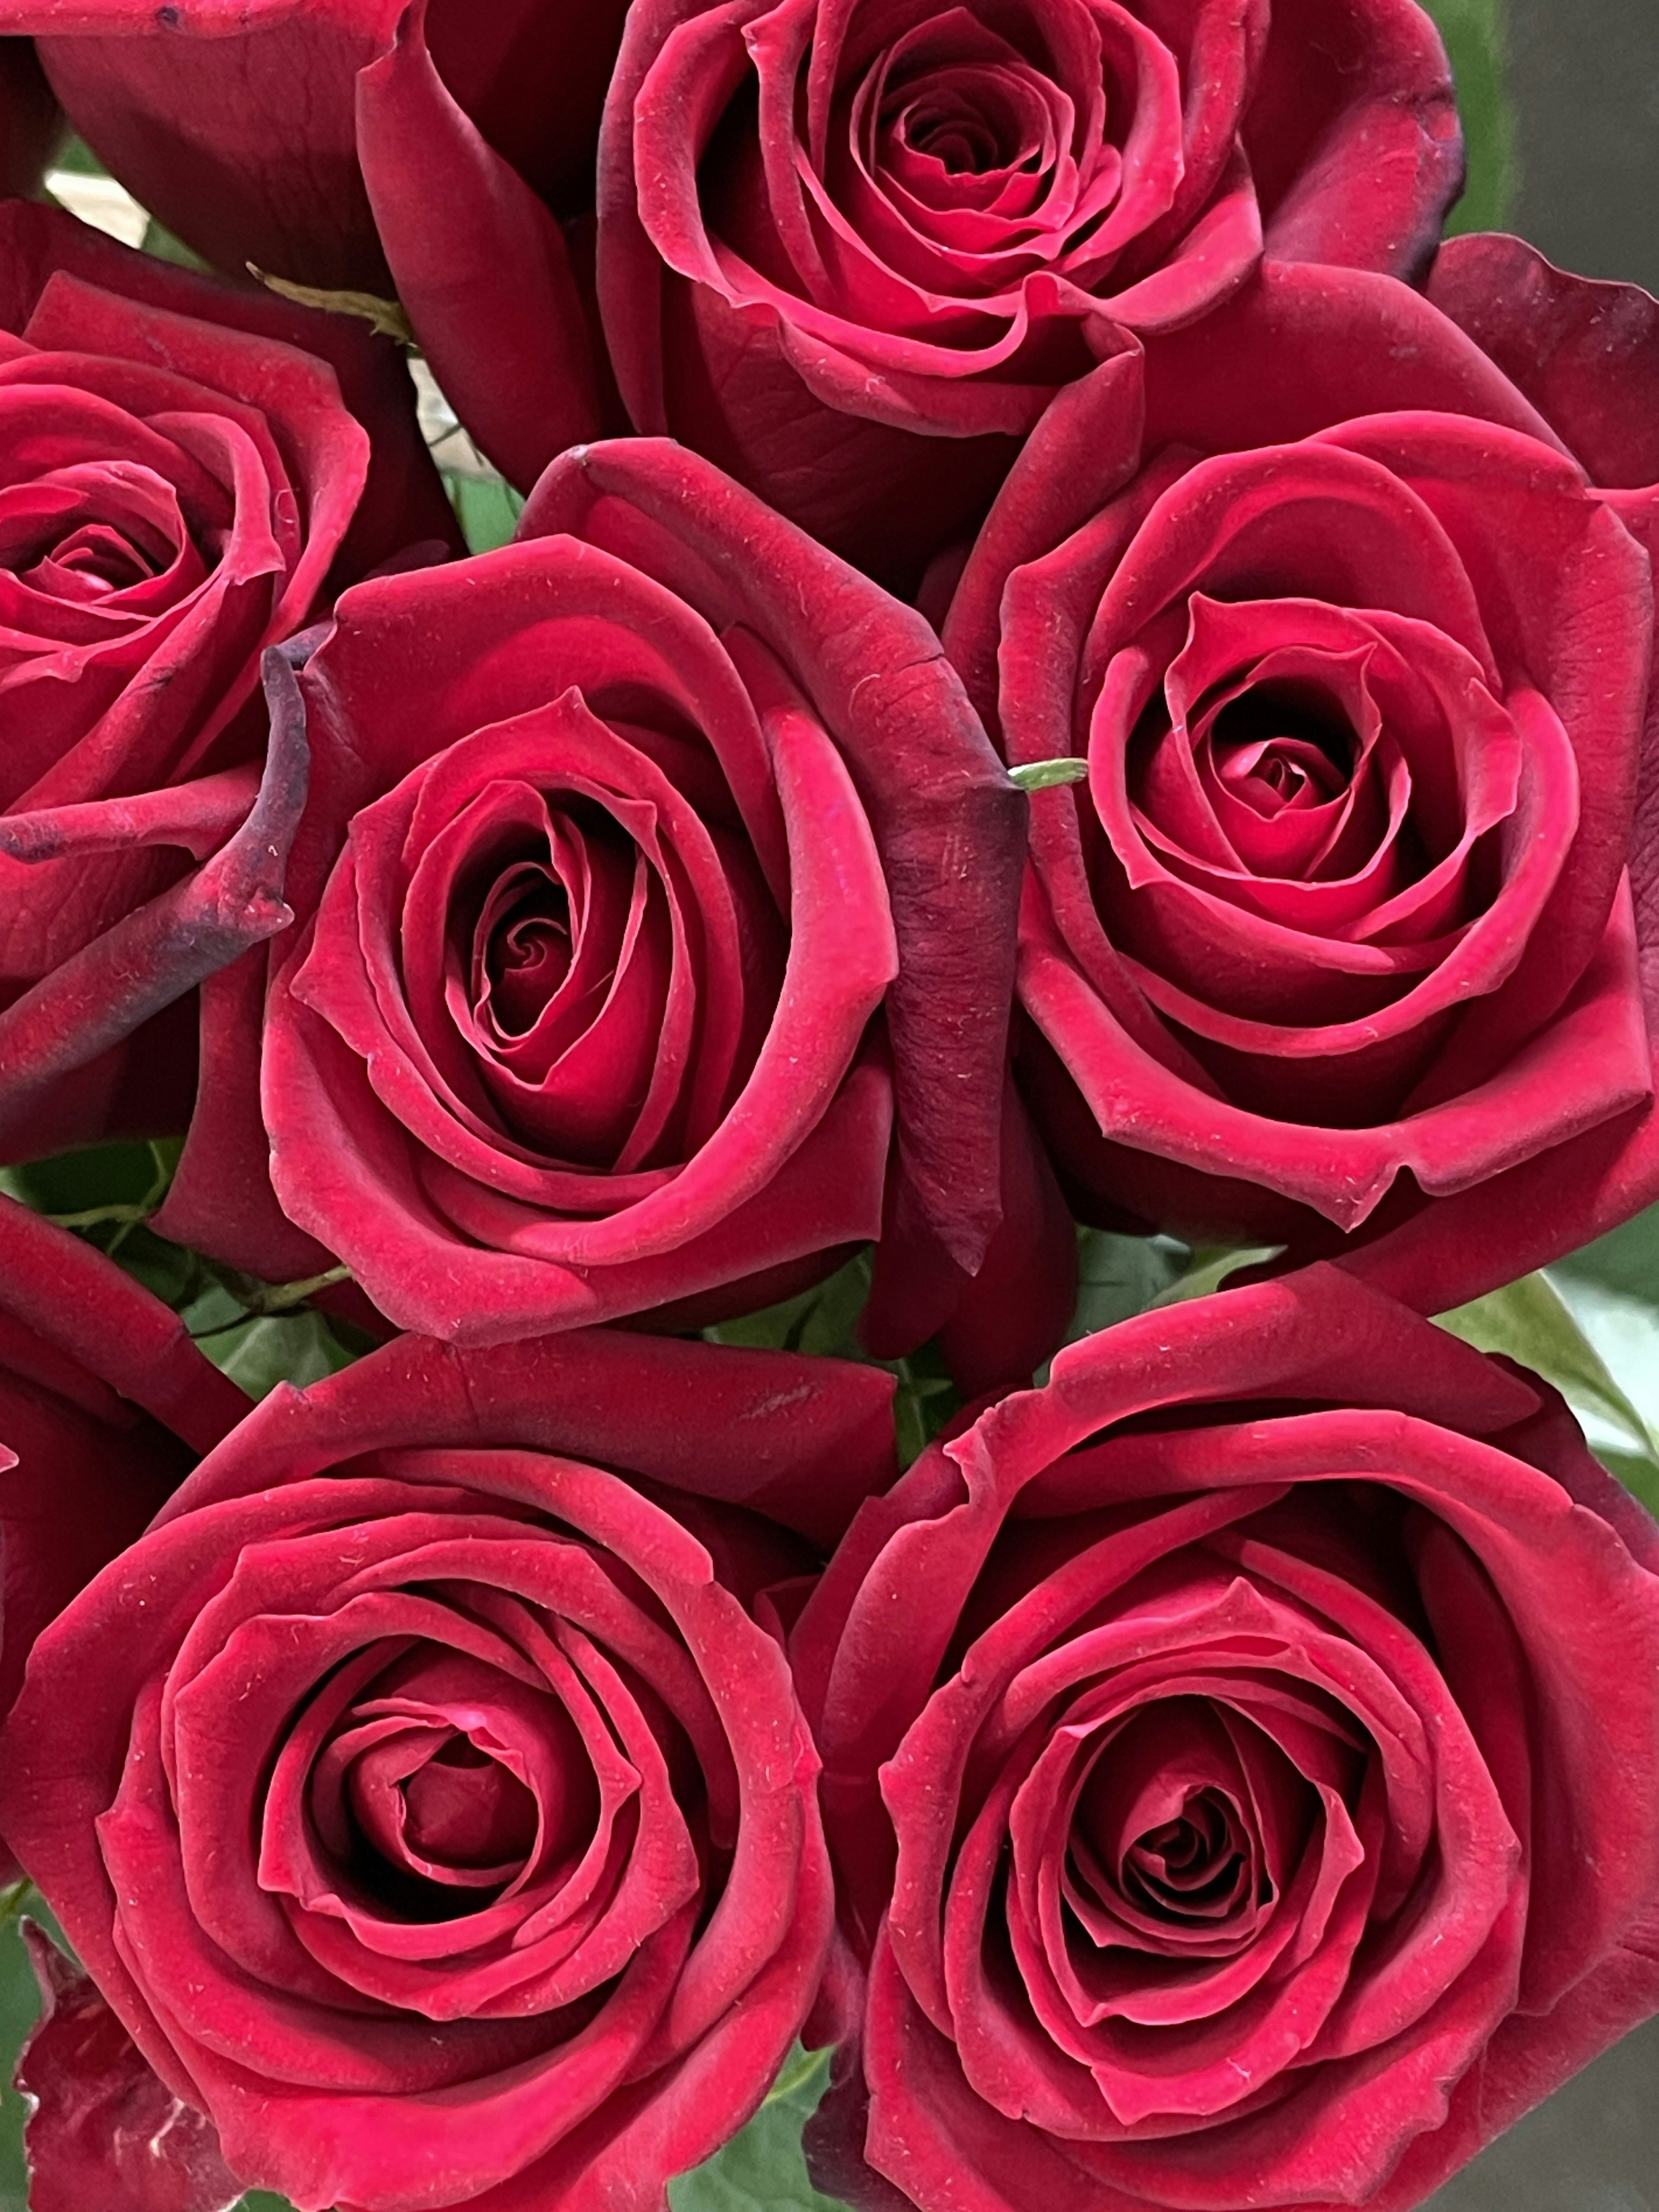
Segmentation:
<svg viewBox="0 0 1659 2212">
<path fill-rule="evenodd" d="M 394 347 L 0 208 L 0 1157 L 184 1126 L 177 1002 L 288 920 L 261 653 L 411 540 Z"/>
</svg>

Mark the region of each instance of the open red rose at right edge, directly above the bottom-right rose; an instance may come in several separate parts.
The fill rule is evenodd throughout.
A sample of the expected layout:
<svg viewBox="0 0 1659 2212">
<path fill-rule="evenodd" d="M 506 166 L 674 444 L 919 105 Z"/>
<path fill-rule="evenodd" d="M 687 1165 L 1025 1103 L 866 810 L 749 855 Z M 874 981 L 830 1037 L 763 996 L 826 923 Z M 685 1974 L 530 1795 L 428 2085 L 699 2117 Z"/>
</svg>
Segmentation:
<svg viewBox="0 0 1659 2212">
<path fill-rule="evenodd" d="M 1033 799 L 1020 951 L 1077 1208 L 1380 1239 L 1356 1265 L 1425 1310 L 1659 1192 L 1652 493 L 1606 489 L 1659 465 L 1655 310 L 1515 241 L 1453 241 L 1433 288 L 1475 336 L 1270 265 L 1106 363 L 945 624 L 1011 759 L 1088 763 Z"/>
</svg>

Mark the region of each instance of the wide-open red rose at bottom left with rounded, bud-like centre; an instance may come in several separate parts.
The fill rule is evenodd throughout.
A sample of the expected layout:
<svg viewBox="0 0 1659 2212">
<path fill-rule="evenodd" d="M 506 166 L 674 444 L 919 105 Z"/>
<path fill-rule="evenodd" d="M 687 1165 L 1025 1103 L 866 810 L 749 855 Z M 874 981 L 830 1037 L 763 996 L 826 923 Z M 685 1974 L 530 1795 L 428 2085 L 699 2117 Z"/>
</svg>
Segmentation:
<svg viewBox="0 0 1659 2212">
<path fill-rule="evenodd" d="M 243 2183 L 661 2205 L 748 2119 L 832 1924 L 768 1590 L 891 1475 L 878 1369 L 400 1338 L 46 1630 L 0 1820 Z"/>
</svg>

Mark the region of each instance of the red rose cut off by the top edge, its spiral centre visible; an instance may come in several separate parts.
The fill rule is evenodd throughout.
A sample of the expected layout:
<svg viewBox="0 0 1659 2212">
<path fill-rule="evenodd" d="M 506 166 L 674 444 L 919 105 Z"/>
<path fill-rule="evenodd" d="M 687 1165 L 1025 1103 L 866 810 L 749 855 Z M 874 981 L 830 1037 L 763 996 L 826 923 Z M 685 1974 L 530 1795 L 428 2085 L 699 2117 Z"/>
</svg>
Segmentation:
<svg viewBox="0 0 1659 2212">
<path fill-rule="evenodd" d="M 1460 177 L 1411 0 L 639 0 L 599 301 L 641 431 L 889 575 L 1124 330 L 1206 314 L 1263 234 L 1413 274 Z"/>
</svg>

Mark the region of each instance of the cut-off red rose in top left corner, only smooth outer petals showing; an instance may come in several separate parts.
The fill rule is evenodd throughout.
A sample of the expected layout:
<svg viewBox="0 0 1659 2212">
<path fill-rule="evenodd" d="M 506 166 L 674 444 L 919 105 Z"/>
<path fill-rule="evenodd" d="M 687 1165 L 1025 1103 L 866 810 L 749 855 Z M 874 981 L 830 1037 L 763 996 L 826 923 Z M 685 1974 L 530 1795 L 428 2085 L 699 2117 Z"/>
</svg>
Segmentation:
<svg viewBox="0 0 1659 2212">
<path fill-rule="evenodd" d="M 396 294 L 438 383 L 529 487 L 593 436 L 560 215 L 626 0 L 0 0 L 102 161 L 230 274 Z"/>
</svg>

